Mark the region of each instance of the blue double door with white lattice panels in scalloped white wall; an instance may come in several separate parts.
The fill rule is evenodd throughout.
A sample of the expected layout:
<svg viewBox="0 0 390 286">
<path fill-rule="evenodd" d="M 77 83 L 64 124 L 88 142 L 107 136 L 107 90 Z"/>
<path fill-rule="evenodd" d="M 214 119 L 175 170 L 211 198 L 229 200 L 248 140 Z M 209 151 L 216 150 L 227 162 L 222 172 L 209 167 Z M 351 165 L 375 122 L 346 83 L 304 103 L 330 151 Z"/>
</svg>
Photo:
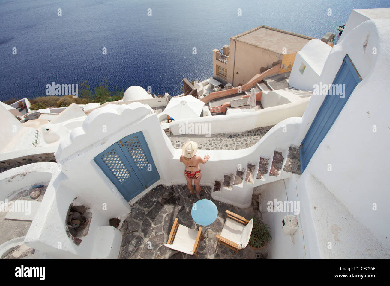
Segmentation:
<svg viewBox="0 0 390 286">
<path fill-rule="evenodd" d="M 94 161 L 127 201 L 160 180 L 142 132 L 122 138 Z"/>
</svg>

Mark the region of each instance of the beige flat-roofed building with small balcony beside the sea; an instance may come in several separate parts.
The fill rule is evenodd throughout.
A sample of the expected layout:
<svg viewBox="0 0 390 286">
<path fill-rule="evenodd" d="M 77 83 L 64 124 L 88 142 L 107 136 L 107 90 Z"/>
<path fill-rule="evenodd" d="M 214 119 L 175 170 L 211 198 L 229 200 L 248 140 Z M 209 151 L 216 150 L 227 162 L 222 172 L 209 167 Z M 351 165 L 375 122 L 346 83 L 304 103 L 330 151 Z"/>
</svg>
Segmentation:
<svg viewBox="0 0 390 286">
<path fill-rule="evenodd" d="M 213 50 L 213 77 L 225 84 L 239 86 L 277 63 L 282 63 L 280 73 L 289 72 L 296 52 L 312 39 L 259 26 L 230 38 L 230 46 Z"/>
</svg>

